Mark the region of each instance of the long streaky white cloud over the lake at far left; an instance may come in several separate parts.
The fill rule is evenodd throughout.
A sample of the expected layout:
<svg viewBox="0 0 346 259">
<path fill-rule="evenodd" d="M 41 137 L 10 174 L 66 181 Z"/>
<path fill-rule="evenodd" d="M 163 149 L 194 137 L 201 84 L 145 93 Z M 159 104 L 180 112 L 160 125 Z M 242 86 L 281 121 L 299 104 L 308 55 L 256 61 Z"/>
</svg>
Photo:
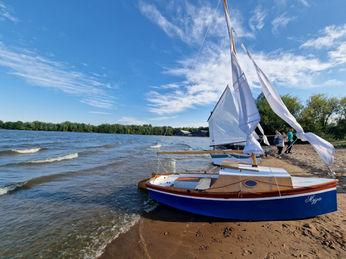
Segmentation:
<svg viewBox="0 0 346 259">
<path fill-rule="evenodd" d="M 78 71 L 71 71 L 69 64 L 43 57 L 25 48 L 8 48 L 0 43 L 0 66 L 9 68 L 9 74 L 25 79 L 28 83 L 52 88 L 79 97 L 80 102 L 112 108 L 114 97 L 104 89 L 107 83 Z"/>
</svg>

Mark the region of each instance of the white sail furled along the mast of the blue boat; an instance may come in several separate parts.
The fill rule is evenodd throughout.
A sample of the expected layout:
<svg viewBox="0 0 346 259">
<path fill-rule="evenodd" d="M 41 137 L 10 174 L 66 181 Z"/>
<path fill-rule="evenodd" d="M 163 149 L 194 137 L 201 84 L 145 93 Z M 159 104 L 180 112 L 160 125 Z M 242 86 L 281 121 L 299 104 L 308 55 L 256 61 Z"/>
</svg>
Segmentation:
<svg viewBox="0 0 346 259">
<path fill-rule="evenodd" d="M 229 15 L 224 5 L 224 12 L 228 27 L 229 43 L 231 48 L 231 63 L 232 63 L 232 78 L 233 88 L 236 94 L 239 105 L 239 128 L 247 135 L 246 146 L 244 153 L 263 154 L 260 143 L 253 136 L 253 132 L 260 122 L 260 114 L 258 113 L 257 106 L 247 83 L 245 74 L 239 66 L 237 57 L 232 48 L 233 35 L 231 31 L 231 22 Z"/>
</svg>

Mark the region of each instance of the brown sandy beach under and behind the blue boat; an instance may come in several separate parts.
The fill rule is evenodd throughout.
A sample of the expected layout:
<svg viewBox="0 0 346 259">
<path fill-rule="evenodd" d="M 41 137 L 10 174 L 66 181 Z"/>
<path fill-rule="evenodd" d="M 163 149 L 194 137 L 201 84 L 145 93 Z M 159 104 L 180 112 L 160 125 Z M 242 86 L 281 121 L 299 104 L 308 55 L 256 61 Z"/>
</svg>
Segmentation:
<svg viewBox="0 0 346 259">
<path fill-rule="evenodd" d="M 268 157 L 263 165 L 282 167 L 292 176 L 328 177 L 311 145 L 294 145 L 292 152 L 283 159 Z M 346 258 L 346 148 L 336 148 L 331 169 L 339 180 L 336 212 L 251 222 L 204 217 L 161 204 L 142 214 L 99 258 Z"/>
</svg>

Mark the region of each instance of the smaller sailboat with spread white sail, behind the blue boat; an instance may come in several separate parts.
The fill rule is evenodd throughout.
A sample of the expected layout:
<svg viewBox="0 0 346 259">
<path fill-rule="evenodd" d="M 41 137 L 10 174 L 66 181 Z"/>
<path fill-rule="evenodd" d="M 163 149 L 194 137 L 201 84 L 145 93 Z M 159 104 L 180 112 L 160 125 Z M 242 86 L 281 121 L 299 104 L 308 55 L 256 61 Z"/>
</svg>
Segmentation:
<svg viewBox="0 0 346 259">
<path fill-rule="evenodd" d="M 239 146 L 242 147 L 246 144 L 246 134 L 239 128 L 239 108 L 229 85 L 227 85 L 222 93 L 207 122 L 209 123 L 210 146 L 213 147 L 214 150 L 216 146 L 226 145 L 233 146 L 233 150 L 237 150 Z M 258 128 L 263 135 L 263 142 L 266 145 L 270 145 L 260 124 L 258 124 Z M 258 137 L 255 131 L 253 135 L 256 140 L 260 140 L 260 137 Z M 223 151 L 224 150 L 221 150 L 219 153 L 210 154 L 215 165 L 221 165 L 223 160 L 253 164 L 251 154 L 225 154 Z M 262 162 L 260 155 L 256 155 L 256 162 Z"/>
</svg>

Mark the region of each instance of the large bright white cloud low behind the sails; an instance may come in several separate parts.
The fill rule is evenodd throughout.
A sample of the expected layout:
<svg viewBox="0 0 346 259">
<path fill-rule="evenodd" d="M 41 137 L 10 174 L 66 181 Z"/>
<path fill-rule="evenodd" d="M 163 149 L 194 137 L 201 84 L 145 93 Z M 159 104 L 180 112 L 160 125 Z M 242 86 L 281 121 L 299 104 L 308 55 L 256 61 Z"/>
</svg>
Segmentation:
<svg viewBox="0 0 346 259">
<path fill-rule="evenodd" d="M 277 50 L 270 53 L 251 51 L 259 67 L 277 87 L 313 88 L 336 85 L 333 81 L 319 80 L 322 71 L 334 65 L 322 62 L 316 57 L 305 57 L 290 51 Z M 189 83 L 186 85 L 176 112 L 183 112 L 189 108 L 216 104 L 226 85 L 232 86 L 231 63 L 229 49 L 219 49 L 219 46 L 210 48 L 208 55 L 203 56 L 195 65 Z M 206 52 L 204 52 L 206 54 Z M 237 58 L 246 75 L 251 88 L 260 88 L 255 69 L 251 60 L 243 51 L 238 51 Z M 167 69 L 164 73 L 187 77 L 191 59 L 178 62 L 177 67 Z M 182 80 L 182 81 L 184 81 Z M 339 83 L 338 83 L 339 84 Z M 149 102 L 150 112 L 163 115 L 172 114 L 181 95 L 181 90 L 159 93 L 149 91 L 145 98 Z"/>
</svg>

